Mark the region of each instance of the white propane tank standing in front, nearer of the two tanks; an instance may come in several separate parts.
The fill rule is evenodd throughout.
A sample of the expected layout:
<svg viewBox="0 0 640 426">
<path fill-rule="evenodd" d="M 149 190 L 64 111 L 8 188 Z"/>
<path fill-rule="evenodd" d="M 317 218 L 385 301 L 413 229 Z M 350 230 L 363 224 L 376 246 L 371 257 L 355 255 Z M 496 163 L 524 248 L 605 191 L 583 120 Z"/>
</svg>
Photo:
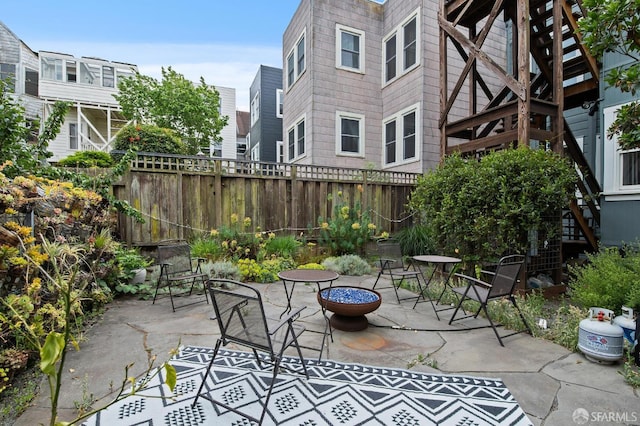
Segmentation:
<svg viewBox="0 0 640 426">
<path fill-rule="evenodd" d="M 613 324 L 613 311 L 592 307 L 589 318 L 580 321 L 578 349 L 594 362 L 616 362 L 622 359 L 622 327 Z"/>
</svg>

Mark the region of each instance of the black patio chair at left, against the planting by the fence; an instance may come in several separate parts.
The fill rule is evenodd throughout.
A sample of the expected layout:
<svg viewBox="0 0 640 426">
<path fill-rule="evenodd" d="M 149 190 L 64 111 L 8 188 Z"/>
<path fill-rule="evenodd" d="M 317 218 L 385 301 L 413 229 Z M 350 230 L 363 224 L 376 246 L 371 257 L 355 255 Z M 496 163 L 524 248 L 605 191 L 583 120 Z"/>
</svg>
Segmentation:
<svg viewBox="0 0 640 426">
<path fill-rule="evenodd" d="M 190 303 L 176 307 L 173 301 L 174 297 L 190 296 L 196 284 L 202 286 L 205 301 L 209 303 L 209 296 L 205 288 L 209 276 L 202 271 L 204 259 L 192 259 L 189 244 L 186 242 L 177 242 L 159 245 L 157 249 L 157 262 L 160 264 L 160 275 L 156 282 L 156 291 L 153 295 L 152 304 L 156 303 L 158 291 L 165 287 L 169 291 L 173 312 L 175 312 L 177 308 L 199 303 L 201 300 L 191 301 Z M 188 291 L 183 289 L 185 286 L 188 286 Z M 178 289 L 179 293 L 174 294 L 174 289 Z"/>
</svg>

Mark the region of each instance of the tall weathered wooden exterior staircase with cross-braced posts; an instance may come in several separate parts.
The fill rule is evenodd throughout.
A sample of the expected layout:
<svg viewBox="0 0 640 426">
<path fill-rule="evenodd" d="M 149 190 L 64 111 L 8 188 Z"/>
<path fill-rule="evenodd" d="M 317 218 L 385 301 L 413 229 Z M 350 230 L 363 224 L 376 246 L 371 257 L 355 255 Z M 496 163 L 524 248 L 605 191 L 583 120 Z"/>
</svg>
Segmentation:
<svg viewBox="0 0 640 426">
<path fill-rule="evenodd" d="M 581 180 L 578 200 L 563 216 L 564 239 L 592 251 L 598 246 L 601 188 L 564 118 L 564 111 L 599 95 L 598 64 L 578 32 L 584 14 L 582 0 L 442 1 L 440 128 L 443 155 L 479 156 L 535 143 L 571 158 Z M 500 16 L 511 23 L 511 71 L 484 46 Z M 464 62 L 462 73 L 449 70 L 456 60 Z M 450 82 L 451 75 L 460 76 Z M 469 115 L 449 120 L 454 105 L 465 101 Z"/>
</svg>

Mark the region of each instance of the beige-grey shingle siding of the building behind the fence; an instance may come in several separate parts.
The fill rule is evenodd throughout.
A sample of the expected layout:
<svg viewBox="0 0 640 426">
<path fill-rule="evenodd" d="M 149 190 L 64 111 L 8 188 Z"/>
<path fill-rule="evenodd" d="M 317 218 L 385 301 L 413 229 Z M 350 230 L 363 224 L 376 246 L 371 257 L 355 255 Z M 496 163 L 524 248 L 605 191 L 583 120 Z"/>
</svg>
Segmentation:
<svg viewBox="0 0 640 426">
<path fill-rule="evenodd" d="M 439 4 L 435 0 L 387 0 L 384 4 L 368 0 L 303 0 L 283 37 L 283 73 L 286 85 L 287 55 L 306 28 L 307 70 L 285 92 L 284 129 L 306 114 L 307 155 L 295 161 L 305 164 L 332 164 L 338 167 L 384 167 L 383 120 L 406 108 L 418 105 L 421 120 L 418 158 L 390 170 L 423 172 L 440 161 L 440 62 Z M 408 18 L 417 12 L 420 50 L 419 65 L 395 80 L 383 81 L 383 40 L 400 32 Z M 336 66 L 336 25 L 364 33 L 364 73 Z M 491 34 L 484 50 L 498 63 L 506 61 L 506 37 L 501 31 Z M 362 48 L 361 48 L 362 53 Z M 456 54 L 457 55 L 457 54 Z M 401 60 L 401 57 L 398 57 Z M 450 89 L 464 63 L 452 55 L 454 65 L 449 77 Z M 499 86 L 488 79 L 490 87 Z M 286 86 L 285 86 L 286 87 Z M 461 98 L 468 89 L 463 88 Z M 480 94 L 480 96 L 483 96 Z M 365 116 L 364 158 L 336 155 L 336 111 Z M 452 116 L 468 115 L 468 105 L 456 104 Z M 286 138 L 286 136 L 285 136 Z"/>
</svg>

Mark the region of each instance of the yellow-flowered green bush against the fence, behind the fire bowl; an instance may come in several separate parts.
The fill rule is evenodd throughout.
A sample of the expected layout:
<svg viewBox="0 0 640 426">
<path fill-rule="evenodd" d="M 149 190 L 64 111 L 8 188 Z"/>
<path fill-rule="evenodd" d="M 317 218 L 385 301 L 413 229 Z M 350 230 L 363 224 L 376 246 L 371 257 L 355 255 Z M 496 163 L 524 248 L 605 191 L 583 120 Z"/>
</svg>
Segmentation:
<svg viewBox="0 0 640 426">
<path fill-rule="evenodd" d="M 371 223 L 369 214 L 362 212 L 360 203 L 354 203 L 352 208 L 340 200 L 340 197 L 341 191 L 338 192 L 339 199 L 333 207 L 332 217 L 318 218 L 318 242 L 327 246 L 334 256 L 362 253 L 364 245 L 375 233 L 376 226 Z"/>
</svg>

